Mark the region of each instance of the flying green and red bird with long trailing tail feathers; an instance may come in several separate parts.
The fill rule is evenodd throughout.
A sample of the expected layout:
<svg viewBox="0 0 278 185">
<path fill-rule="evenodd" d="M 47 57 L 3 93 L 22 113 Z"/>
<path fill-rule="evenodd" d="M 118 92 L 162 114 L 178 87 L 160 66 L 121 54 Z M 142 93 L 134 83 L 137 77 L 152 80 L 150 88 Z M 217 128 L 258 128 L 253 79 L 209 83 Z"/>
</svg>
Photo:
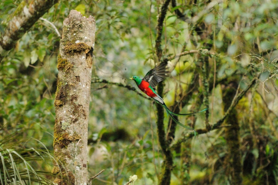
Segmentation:
<svg viewBox="0 0 278 185">
<path fill-rule="evenodd" d="M 154 67 L 149 72 L 147 72 L 147 74 L 145 75 L 145 77 L 143 79 L 140 79 L 139 76 L 133 76 L 130 79 L 135 81 L 135 83 L 137 84 L 138 88 L 141 91 L 143 91 L 149 97 L 153 98 L 154 101 L 156 101 L 157 103 L 161 104 L 165 108 L 167 115 L 169 114 L 173 121 L 175 121 L 177 124 L 179 124 L 182 127 L 193 130 L 193 128 L 187 127 L 187 126 L 183 125 L 182 123 L 180 123 L 177 119 L 174 118 L 174 115 L 184 116 L 184 115 L 189 115 L 189 114 L 196 114 L 199 112 L 193 112 L 193 113 L 189 113 L 189 114 L 174 113 L 171 110 L 169 110 L 169 108 L 165 105 L 162 97 L 160 97 L 158 95 L 158 93 L 155 92 L 155 90 L 154 90 L 154 88 L 158 84 L 158 82 L 164 80 L 167 77 L 169 72 L 166 71 L 166 66 L 167 66 L 167 62 L 161 62 L 158 66 Z M 207 109 L 208 108 L 206 108 L 200 112 L 203 112 Z"/>
</svg>

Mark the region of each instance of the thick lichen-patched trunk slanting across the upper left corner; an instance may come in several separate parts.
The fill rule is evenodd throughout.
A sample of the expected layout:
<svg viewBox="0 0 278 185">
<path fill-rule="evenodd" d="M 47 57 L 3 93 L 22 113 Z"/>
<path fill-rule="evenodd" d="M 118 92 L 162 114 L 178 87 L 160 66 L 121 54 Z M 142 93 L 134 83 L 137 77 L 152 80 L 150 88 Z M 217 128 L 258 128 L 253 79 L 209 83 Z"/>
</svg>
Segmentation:
<svg viewBox="0 0 278 185">
<path fill-rule="evenodd" d="M 15 46 L 16 41 L 57 2 L 58 0 L 26 0 L 19 4 L 0 38 L 0 62 Z"/>
</svg>

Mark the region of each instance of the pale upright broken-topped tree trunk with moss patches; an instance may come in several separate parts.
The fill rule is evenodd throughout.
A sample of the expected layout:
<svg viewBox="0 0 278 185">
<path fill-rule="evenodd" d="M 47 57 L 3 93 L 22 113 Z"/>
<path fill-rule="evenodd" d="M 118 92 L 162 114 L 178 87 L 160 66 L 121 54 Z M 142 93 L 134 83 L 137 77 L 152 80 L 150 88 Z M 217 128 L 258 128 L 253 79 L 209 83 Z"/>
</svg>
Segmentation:
<svg viewBox="0 0 278 185">
<path fill-rule="evenodd" d="M 56 184 L 87 184 L 88 112 L 95 44 L 95 19 L 72 10 L 63 22 L 57 91 L 54 101 L 54 155 L 65 166 L 54 164 Z M 60 168 L 59 168 L 60 167 Z M 64 176 L 62 180 L 60 176 Z"/>
</svg>

